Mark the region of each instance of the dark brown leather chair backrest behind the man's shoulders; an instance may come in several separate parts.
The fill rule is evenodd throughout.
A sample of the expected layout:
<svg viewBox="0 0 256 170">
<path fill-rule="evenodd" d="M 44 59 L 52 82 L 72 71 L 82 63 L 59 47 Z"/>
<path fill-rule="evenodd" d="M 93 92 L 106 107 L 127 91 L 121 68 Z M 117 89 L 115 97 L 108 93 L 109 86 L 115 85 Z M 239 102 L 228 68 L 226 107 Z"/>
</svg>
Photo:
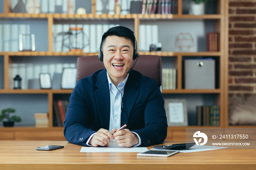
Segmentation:
<svg viewBox="0 0 256 170">
<path fill-rule="evenodd" d="M 82 56 L 77 59 L 77 80 L 90 76 L 95 71 L 104 69 L 99 61 L 98 55 Z M 157 81 L 157 85 L 161 86 L 162 80 L 162 62 L 158 55 L 140 55 L 133 68 L 143 76 L 153 78 Z"/>
</svg>

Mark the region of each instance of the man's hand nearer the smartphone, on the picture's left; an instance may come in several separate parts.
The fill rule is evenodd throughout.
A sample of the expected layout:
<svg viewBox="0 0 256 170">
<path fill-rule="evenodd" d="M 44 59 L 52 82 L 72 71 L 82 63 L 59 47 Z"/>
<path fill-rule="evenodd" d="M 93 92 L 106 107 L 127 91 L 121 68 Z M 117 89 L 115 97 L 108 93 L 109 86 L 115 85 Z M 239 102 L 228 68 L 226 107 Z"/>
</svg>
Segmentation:
<svg viewBox="0 0 256 170">
<path fill-rule="evenodd" d="M 110 139 L 114 139 L 113 135 L 106 129 L 100 129 L 90 139 L 89 144 L 92 146 L 105 146 L 110 142 Z"/>
</svg>

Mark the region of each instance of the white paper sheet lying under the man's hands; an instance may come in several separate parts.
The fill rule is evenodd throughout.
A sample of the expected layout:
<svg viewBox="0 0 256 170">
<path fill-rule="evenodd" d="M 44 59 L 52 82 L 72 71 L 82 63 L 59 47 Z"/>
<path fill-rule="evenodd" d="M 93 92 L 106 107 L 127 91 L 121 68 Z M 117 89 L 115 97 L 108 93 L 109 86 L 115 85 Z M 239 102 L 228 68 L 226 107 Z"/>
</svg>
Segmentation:
<svg viewBox="0 0 256 170">
<path fill-rule="evenodd" d="M 82 147 L 80 152 L 144 152 L 147 147 L 119 147 L 116 142 L 111 141 L 105 147 Z"/>
</svg>

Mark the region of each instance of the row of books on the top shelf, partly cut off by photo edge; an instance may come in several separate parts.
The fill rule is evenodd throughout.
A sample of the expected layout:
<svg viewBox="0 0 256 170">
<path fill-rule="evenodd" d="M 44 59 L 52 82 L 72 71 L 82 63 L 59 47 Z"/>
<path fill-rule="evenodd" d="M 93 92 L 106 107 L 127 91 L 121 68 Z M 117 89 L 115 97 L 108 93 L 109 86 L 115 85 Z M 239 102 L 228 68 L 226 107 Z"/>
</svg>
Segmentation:
<svg viewBox="0 0 256 170">
<path fill-rule="evenodd" d="M 142 14 L 176 14 L 177 4 L 177 0 L 143 0 Z"/>
</svg>

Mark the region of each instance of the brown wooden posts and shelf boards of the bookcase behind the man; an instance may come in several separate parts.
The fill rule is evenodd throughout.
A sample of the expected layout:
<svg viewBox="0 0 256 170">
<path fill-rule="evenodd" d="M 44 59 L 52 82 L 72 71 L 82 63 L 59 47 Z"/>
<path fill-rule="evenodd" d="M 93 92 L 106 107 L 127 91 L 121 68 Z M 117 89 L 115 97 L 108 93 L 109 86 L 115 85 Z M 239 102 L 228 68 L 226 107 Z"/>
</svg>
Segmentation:
<svg viewBox="0 0 256 170">
<path fill-rule="evenodd" d="M 0 13 L 0 20 L 46 20 L 48 23 L 48 51 L 0 51 L 0 56 L 4 58 L 4 88 L 0 89 L 0 94 L 47 94 L 48 96 L 48 113 L 49 113 L 49 128 L 35 128 L 35 127 L 13 127 L 13 128 L 0 128 L 1 135 L 0 140 L 64 140 L 63 137 L 63 127 L 54 127 L 53 126 L 53 100 L 55 94 L 71 94 L 72 89 L 26 89 L 26 90 L 13 90 L 9 89 L 11 77 L 9 76 L 9 65 L 13 62 L 13 56 L 27 57 L 27 56 L 85 56 L 85 55 L 98 55 L 96 53 L 75 53 L 75 52 L 55 52 L 52 49 L 53 46 L 53 30 L 52 27 L 55 24 L 56 20 L 61 20 L 61 22 L 69 23 L 76 20 L 107 20 L 109 22 L 122 21 L 122 20 L 132 20 L 134 24 L 133 31 L 135 33 L 136 39 L 139 39 L 139 26 L 143 21 L 152 22 L 154 24 L 158 20 L 164 21 L 166 23 L 172 22 L 173 20 L 178 21 L 197 21 L 197 20 L 213 20 L 214 21 L 214 31 L 220 32 L 220 42 L 221 47 L 220 51 L 217 52 L 173 52 L 173 51 L 139 51 L 141 55 L 159 55 L 163 58 L 165 57 L 175 57 L 174 65 L 177 69 L 177 89 L 175 90 L 165 90 L 162 89 L 163 95 L 169 94 L 214 94 L 216 95 L 216 102 L 220 105 L 220 126 L 219 127 L 230 127 L 228 125 L 228 101 L 227 101 L 227 72 L 228 72 L 228 1 L 226 0 L 217 0 L 217 9 L 216 14 L 206 14 L 206 15 L 188 15 L 182 14 L 182 0 L 178 0 L 178 13 L 177 14 L 127 14 L 127 15 L 109 15 L 109 14 L 96 14 L 96 0 L 92 0 L 92 13 L 78 15 L 78 14 L 65 14 L 65 13 L 39 13 L 39 14 L 29 14 L 29 13 L 12 13 L 8 11 L 8 0 L 4 0 L 4 13 Z M 160 33 L 160 34 L 165 34 Z M 182 59 L 184 57 L 217 57 L 219 70 L 218 70 L 218 88 L 217 89 L 183 89 L 182 88 Z M 1 63 L 0 63 L 1 64 Z M 28 108 L 29 109 L 29 108 Z M 167 140 L 185 140 L 185 129 L 186 128 L 197 128 L 198 126 L 188 126 L 188 127 L 168 127 L 168 136 Z M 240 127 L 240 126 L 239 126 Z M 246 126 L 247 127 L 247 126 Z M 249 126 L 251 127 L 251 126 Z M 203 127 L 210 128 L 210 127 Z M 211 127 L 213 128 L 213 127 Z M 31 135 L 25 134 L 34 134 L 34 137 Z M 39 137 L 42 134 L 44 138 Z M 23 138 L 20 137 L 25 135 Z M 2 137 L 2 136 L 7 136 Z M 53 135 L 56 135 L 56 138 L 53 139 Z"/>
</svg>

